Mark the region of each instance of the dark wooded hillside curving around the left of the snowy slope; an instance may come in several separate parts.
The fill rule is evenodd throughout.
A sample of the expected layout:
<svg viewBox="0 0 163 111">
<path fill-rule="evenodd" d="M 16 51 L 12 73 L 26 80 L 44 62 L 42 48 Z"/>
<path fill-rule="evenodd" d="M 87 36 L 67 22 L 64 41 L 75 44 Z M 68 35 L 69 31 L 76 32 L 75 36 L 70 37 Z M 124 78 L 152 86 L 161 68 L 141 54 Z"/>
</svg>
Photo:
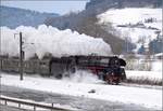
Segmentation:
<svg viewBox="0 0 163 111">
<path fill-rule="evenodd" d="M 48 26 L 58 27 L 59 29 L 77 30 L 79 33 L 86 33 L 95 38 L 102 38 L 109 43 L 114 54 L 125 52 L 125 40 L 103 30 L 104 24 L 97 24 L 97 15 L 104 13 L 109 9 L 124 9 L 124 8 L 160 8 L 162 0 L 90 0 L 86 4 L 86 9 L 79 13 L 70 13 L 55 18 L 46 19 L 45 24 Z M 114 30 L 115 27 L 110 24 L 109 30 Z M 118 45 L 116 45 L 117 43 Z M 136 47 L 135 44 L 128 42 L 129 50 Z"/>
</svg>

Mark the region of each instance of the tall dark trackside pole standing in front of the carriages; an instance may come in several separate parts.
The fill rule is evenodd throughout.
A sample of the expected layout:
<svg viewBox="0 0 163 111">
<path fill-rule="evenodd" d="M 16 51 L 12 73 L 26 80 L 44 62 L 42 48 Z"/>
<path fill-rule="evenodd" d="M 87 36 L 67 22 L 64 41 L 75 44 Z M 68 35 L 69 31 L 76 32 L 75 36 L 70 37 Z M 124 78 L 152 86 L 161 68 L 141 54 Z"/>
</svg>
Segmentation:
<svg viewBox="0 0 163 111">
<path fill-rule="evenodd" d="M 23 50 L 22 50 L 23 41 L 22 41 L 22 32 L 20 32 L 20 80 L 23 81 Z"/>
</svg>

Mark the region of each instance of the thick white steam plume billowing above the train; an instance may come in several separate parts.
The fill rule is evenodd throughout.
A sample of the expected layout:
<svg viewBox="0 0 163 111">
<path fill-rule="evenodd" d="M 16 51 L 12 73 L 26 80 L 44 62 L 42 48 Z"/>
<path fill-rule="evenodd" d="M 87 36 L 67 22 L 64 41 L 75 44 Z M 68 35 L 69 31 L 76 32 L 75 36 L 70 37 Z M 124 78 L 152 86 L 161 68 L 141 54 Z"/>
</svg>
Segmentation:
<svg viewBox="0 0 163 111">
<path fill-rule="evenodd" d="M 38 28 L 20 26 L 16 29 L 1 27 L 1 54 L 18 56 L 18 36 L 23 32 L 23 50 L 25 58 L 37 54 L 41 58 L 51 53 L 55 57 L 65 55 L 111 55 L 111 47 L 102 39 L 95 39 L 86 34 L 79 34 L 70 29 L 59 30 L 54 27 L 40 25 Z"/>
</svg>

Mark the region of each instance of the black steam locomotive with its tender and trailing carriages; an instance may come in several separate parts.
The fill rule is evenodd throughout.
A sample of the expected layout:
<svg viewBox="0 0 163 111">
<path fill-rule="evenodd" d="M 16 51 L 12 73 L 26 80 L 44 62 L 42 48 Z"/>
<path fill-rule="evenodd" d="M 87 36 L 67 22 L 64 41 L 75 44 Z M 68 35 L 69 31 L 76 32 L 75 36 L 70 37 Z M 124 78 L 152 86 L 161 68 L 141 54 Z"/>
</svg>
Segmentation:
<svg viewBox="0 0 163 111">
<path fill-rule="evenodd" d="M 65 57 L 37 57 L 23 61 L 25 73 L 39 73 L 42 75 L 53 75 L 61 79 L 68 77 L 77 70 L 89 70 L 99 79 L 110 84 L 118 84 L 126 79 L 124 67 L 126 63 L 117 56 L 65 56 Z M 0 70 L 8 72 L 20 71 L 20 58 L 0 56 Z M 66 74 L 64 73 L 66 72 Z"/>
</svg>

